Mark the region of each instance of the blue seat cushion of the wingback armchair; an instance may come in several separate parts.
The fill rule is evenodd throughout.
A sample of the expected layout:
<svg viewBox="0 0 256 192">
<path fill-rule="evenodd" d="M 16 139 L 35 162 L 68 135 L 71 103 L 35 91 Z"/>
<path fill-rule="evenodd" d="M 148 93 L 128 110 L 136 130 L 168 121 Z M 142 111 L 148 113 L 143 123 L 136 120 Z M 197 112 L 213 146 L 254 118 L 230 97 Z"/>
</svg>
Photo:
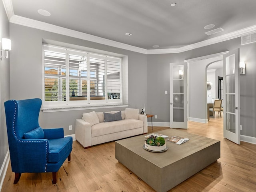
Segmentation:
<svg viewBox="0 0 256 192">
<path fill-rule="evenodd" d="M 67 151 L 72 148 L 72 137 L 64 137 L 59 139 L 49 140 L 49 154 L 48 162 L 56 163 L 60 161 L 64 156 L 68 156 Z"/>
</svg>

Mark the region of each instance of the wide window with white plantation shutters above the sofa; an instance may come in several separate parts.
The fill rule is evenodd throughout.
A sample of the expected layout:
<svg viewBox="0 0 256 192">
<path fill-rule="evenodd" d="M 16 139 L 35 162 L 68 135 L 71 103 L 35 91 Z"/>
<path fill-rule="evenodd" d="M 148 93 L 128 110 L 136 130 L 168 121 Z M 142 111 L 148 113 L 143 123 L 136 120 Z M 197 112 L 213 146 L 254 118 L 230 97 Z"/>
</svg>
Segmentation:
<svg viewBox="0 0 256 192">
<path fill-rule="evenodd" d="M 43 45 L 43 106 L 122 104 L 122 58 Z"/>
</svg>

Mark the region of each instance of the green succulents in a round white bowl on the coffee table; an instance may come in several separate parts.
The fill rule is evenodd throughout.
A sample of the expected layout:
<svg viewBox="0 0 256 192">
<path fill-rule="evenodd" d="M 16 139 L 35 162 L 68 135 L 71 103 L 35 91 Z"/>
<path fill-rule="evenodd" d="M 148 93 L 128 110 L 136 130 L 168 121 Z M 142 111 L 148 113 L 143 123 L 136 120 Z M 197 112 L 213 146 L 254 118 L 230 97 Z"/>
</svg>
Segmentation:
<svg viewBox="0 0 256 192">
<path fill-rule="evenodd" d="M 163 151 L 166 149 L 164 138 L 153 134 L 146 138 L 144 146 L 151 151 Z"/>
</svg>

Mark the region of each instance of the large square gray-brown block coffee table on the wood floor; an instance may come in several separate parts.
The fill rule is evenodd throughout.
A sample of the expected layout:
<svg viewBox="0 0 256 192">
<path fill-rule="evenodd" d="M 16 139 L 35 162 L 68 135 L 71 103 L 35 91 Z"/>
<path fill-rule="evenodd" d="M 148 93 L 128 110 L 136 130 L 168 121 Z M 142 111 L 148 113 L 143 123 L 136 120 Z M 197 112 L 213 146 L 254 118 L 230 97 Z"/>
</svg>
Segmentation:
<svg viewBox="0 0 256 192">
<path fill-rule="evenodd" d="M 116 159 L 157 192 L 170 190 L 220 158 L 218 140 L 172 128 L 157 133 L 190 140 L 181 145 L 166 141 L 168 150 L 161 153 L 143 148 L 146 135 L 116 141 Z"/>
</svg>

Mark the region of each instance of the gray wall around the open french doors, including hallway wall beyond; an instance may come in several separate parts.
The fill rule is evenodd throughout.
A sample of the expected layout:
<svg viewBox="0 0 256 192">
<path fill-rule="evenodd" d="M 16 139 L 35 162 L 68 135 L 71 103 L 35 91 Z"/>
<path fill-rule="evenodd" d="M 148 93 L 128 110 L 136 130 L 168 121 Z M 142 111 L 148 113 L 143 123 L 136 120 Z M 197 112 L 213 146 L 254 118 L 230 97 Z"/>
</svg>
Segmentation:
<svg viewBox="0 0 256 192">
<path fill-rule="evenodd" d="M 240 76 L 242 135 L 256 137 L 256 43 L 241 46 L 241 38 L 197 48 L 179 54 L 147 56 L 148 113 L 158 115 L 154 122 L 170 122 L 169 65 L 190 58 L 206 56 L 240 48 L 240 60 L 246 62 L 246 75 Z M 206 119 L 206 65 L 189 66 L 189 117 Z M 164 94 L 168 90 L 168 95 Z"/>
</svg>

